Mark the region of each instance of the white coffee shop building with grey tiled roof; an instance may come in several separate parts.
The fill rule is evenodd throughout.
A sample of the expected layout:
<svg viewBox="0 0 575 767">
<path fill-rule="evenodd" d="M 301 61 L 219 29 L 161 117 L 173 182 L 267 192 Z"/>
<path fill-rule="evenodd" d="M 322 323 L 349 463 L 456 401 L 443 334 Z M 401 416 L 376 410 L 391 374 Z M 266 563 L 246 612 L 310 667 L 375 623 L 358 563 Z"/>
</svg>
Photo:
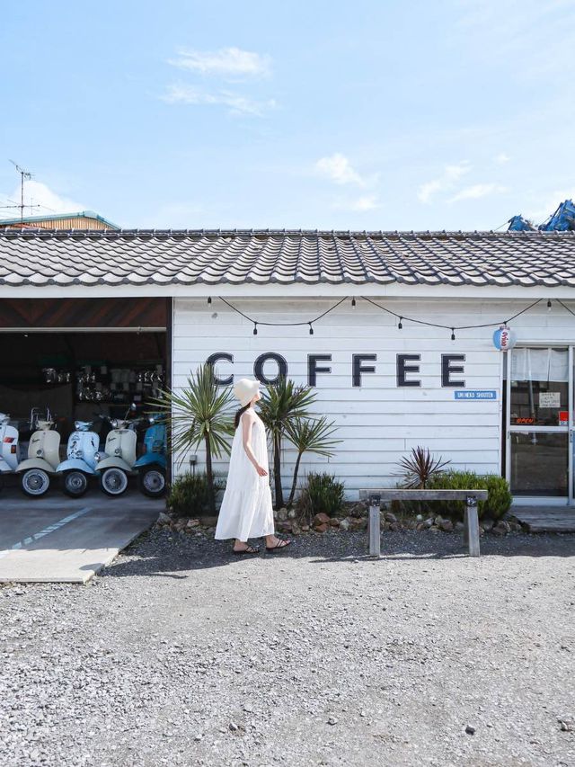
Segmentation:
<svg viewBox="0 0 575 767">
<path fill-rule="evenodd" d="M 554 232 L 7 230 L 0 410 L 31 405 L 38 344 L 43 359 L 73 347 L 62 365 L 75 370 L 159 363 L 174 388 L 208 359 L 226 382 L 286 371 L 315 388 L 342 440 L 302 473 L 333 473 L 349 497 L 396 482 L 421 445 L 453 468 L 503 473 L 522 503 L 572 504 L 574 257 L 575 235 Z M 492 335 L 506 320 L 517 345 L 502 353 Z M 21 379 L 11 350 L 30 369 Z M 72 418 L 87 405 L 70 386 Z M 287 449 L 286 486 L 293 459 Z"/>
</svg>

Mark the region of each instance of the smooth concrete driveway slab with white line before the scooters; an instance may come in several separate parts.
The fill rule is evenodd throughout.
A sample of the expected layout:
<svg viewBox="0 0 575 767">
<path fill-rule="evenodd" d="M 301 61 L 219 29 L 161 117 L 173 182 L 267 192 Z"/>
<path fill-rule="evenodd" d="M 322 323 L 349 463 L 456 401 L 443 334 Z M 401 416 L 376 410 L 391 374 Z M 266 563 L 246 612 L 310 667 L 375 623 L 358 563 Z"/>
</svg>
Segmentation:
<svg viewBox="0 0 575 767">
<path fill-rule="evenodd" d="M 72 499 L 56 490 L 29 500 L 0 493 L 0 583 L 84 584 L 145 531 L 164 501 L 128 491 L 109 498 L 92 490 Z"/>
</svg>

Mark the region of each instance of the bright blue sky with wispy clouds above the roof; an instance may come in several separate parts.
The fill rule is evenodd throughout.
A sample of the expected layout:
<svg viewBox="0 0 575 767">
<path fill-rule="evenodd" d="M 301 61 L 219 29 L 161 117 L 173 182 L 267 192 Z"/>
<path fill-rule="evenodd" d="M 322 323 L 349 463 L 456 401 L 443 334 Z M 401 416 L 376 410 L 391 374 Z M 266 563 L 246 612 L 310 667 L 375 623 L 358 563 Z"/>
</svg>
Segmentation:
<svg viewBox="0 0 575 767">
<path fill-rule="evenodd" d="M 123 227 L 490 229 L 575 197 L 575 0 L 31 0 L 11 158 Z M 11 210 L 0 215 L 11 216 Z"/>
</svg>

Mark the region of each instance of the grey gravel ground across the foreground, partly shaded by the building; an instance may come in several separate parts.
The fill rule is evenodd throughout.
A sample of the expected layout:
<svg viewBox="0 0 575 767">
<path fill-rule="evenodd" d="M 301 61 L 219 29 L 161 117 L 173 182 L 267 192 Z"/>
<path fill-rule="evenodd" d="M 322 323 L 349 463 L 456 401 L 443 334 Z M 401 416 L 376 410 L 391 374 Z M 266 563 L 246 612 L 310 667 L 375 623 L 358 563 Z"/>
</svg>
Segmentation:
<svg viewBox="0 0 575 767">
<path fill-rule="evenodd" d="M 366 537 L 0 589 L 0 763 L 575 765 L 575 536 Z"/>
</svg>

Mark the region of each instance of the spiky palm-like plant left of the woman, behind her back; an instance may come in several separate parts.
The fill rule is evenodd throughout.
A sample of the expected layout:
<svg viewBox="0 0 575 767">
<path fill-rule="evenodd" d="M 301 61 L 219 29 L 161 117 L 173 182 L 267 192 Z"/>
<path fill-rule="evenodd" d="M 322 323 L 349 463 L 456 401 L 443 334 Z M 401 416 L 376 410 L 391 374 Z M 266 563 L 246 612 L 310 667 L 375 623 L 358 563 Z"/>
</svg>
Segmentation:
<svg viewBox="0 0 575 767">
<path fill-rule="evenodd" d="M 206 475 L 209 486 L 209 507 L 216 513 L 216 494 L 212 458 L 222 453 L 229 455 L 230 445 L 226 437 L 234 433 L 230 408 L 234 395 L 230 388 L 219 388 L 214 379 L 213 366 L 201 365 L 188 378 L 188 386 L 179 391 L 162 391 L 152 401 L 156 410 L 165 413 L 171 428 L 172 450 L 181 453 L 179 465 L 186 453 L 204 443 L 206 449 Z"/>
</svg>

